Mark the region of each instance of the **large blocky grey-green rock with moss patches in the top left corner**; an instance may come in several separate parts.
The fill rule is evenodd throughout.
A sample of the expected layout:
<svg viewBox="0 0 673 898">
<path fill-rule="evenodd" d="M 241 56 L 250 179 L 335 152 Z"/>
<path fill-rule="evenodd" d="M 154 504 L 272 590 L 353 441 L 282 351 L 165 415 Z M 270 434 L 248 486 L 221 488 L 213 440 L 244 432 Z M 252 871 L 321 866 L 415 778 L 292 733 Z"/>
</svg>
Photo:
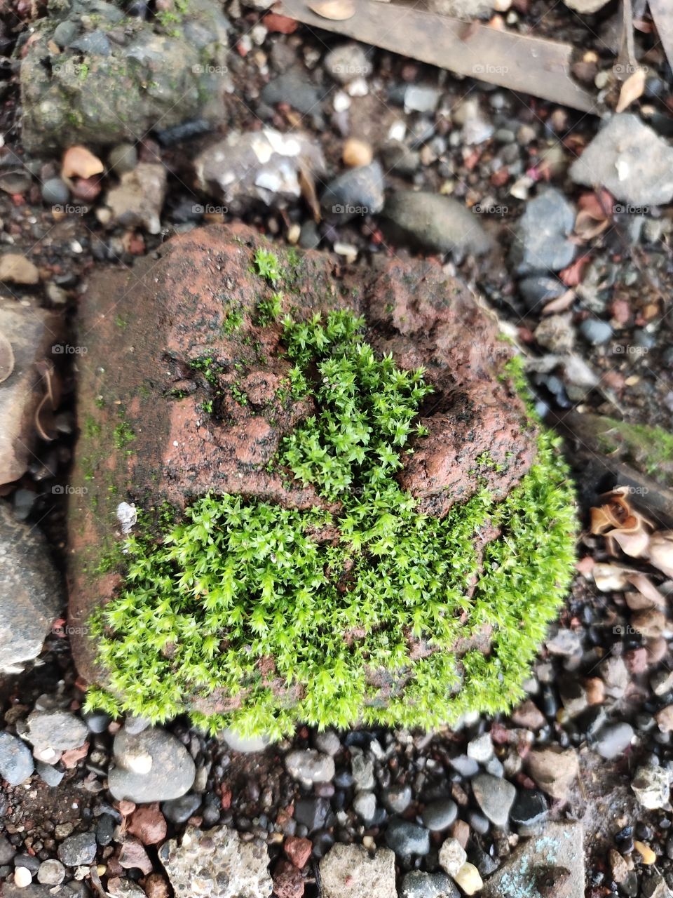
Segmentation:
<svg viewBox="0 0 673 898">
<path fill-rule="evenodd" d="M 167 129 L 223 119 L 229 24 L 221 4 L 189 0 L 188 12 L 163 33 L 152 21 L 128 19 L 124 41 L 110 39 L 118 27 L 112 13 L 97 13 L 96 30 L 76 37 L 93 4 L 60 9 L 35 22 L 22 54 L 22 140 L 29 149 L 135 141 L 159 123 Z M 67 40 L 73 27 L 74 40 Z M 208 36 L 205 44 L 195 40 L 197 31 Z M 68 46 L 56 65 L 44 66 L 55 37 Z M 83 68 L 83 54 L 95 64 Z"/>
</svg>

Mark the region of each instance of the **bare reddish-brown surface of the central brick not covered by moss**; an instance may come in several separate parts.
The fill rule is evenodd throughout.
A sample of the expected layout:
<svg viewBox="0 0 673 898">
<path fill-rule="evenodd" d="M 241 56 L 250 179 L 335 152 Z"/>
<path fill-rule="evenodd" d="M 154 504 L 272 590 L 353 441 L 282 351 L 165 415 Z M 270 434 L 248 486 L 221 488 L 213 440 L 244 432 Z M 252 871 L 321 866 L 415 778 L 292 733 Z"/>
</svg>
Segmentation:
<svg viewBox="0 0 673 898">
<path fill-rule="evenodd" d="M 182 234 L 158 259 L 94 276 L 80 305 L 80 342 L 88 351 L 78 359 L 82 436 L 73 484 L 86 491 L 71 494 L 69 624 L 76 663 L 90 682 L 105 680 L 86 628 L 90 613 L 118 587 L 115 575 L 93 573 L 119 539 L 118 502 L 145 511 L 164 501 L 182 508 L 214 491 L 295 508 L 325 506 L 314 490 L 267 471 L 281 439 L 311 413 L 312 402 L 278 398 L 289 364 L 278 353 L 280 323 L 257 323 L 258 301 L 268 292 L 251 272 L 260 245 L 268 244 L 243 226 Z M 494 497 L 507 496 L 529 470 L 536 434 L 522 429 L 523 406 L 503 379 L 511 350 L 468 289 L 432 261 L 381 260 L 371 269 L 348 269 L 323 253 L 304 253 L 296 265 L 282 247 L 274 251 L 285 272 L 284 313 L 354 309 L 365 316 L 374 348 L 392 352 L 402 367 L 424 366 L 434 388 L 421 414 L 429 436 L 405 456 L 400 473 L 420 508 L 445 515 L 483 483 Z M 232 316 L 240 319 L 235 328 Z M 247 404 L 236 400 L 237 391 L 246 393 Z M 214 414 L 205 410 L 210 402 Z M 480 466 L 476 460 L 485 453 L 490 463 Z M 498 535 L 485 527 L 477 550 Z M 454 648 L 461 656 L 474 647 L 487 652 L 489 645 L 484 631 Z M 426 651 L 421 644 L 411 649 L 418 656 Z M 276 694 L 301 698 L 275 677 L 273 659 L 262 662 L 261 672 Z M 376 670 L 369 681 L 379 688 L 377 700 L 399 685 Z M 226 712 L 240 700 L 214 693 L 193 707 Z"/>
</svg>

